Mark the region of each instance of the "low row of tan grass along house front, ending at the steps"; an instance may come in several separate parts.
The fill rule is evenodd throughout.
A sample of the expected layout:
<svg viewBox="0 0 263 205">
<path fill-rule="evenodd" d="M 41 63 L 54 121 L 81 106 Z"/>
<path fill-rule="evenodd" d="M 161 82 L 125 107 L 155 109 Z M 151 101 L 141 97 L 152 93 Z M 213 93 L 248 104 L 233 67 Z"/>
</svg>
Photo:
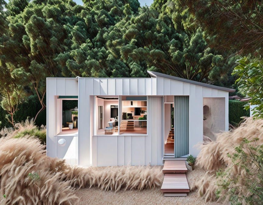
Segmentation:
<svg viewBox="0 0 263 205">
<path fill-rule="evenodd" d="M 74 187 L 98 187 L 104 191 L 139 190 L 160 187 L 162 166 L 121 166 L 98 169 L 95 167 L 68 167 L 65 180 Z"/>
</svg>

